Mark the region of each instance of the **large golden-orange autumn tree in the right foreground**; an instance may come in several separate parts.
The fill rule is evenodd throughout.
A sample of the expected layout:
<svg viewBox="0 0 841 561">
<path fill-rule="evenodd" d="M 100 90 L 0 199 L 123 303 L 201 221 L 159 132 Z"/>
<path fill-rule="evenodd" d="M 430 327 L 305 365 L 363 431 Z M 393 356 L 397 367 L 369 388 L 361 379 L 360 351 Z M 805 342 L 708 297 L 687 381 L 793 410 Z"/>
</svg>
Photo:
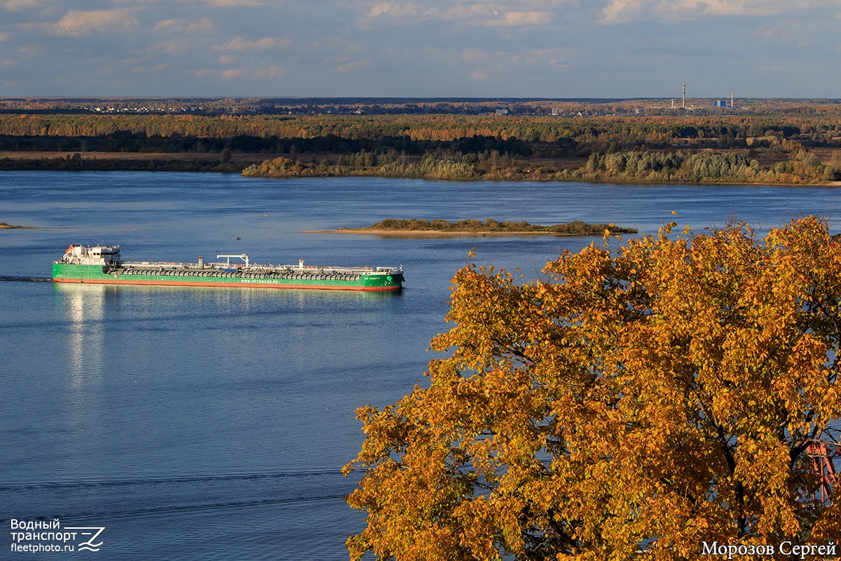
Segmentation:
<svg viewBox="0 0 841 561">
<path fill-rule="evenodd" d="M 428 387 L 357 412 L 352 559 L 837 541 L 809 445 L 835 449 L 841 241 L 813 217 L 764 239 L 672 227 L 564 252 L 532 282 L 458 272 Z"/>
</svg>

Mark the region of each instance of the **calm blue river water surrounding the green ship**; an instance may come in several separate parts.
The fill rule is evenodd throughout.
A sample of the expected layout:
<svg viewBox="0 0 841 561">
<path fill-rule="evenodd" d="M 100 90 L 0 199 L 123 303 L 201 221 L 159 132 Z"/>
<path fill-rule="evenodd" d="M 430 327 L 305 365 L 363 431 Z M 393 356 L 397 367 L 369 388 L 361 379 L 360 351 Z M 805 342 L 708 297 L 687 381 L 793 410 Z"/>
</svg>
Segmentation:
<svg viewBox="0 0 841 561">
<path fill-rule="evenodd" d="M 733 216 L 760 229 L 837 214 L 831 188 L 262 180 L 0 172 L 0 276 L 48 277 L 70 243 L 130 260 L 405 267 L 401 294 L 0 283 L 0 527 L 105 527 L 91 558 L 346 559 L 363 516 L 339 470 L 354 410 L 423 384 L 449 279 L 477 262 L 532 275 L 591 238 L 304 234 L 383 218 L 614 222 L 643 232 Z M 677 214 L 672 214 L 676 211 Z M 833 224 L 833 231 L 838 230 Z M 598 240 L 596 240 L 598 242 Z M 8 533 L 2 535 L 8 536 Z M 68 558 L 9 553 L 0 558 Z"/>
</svg>

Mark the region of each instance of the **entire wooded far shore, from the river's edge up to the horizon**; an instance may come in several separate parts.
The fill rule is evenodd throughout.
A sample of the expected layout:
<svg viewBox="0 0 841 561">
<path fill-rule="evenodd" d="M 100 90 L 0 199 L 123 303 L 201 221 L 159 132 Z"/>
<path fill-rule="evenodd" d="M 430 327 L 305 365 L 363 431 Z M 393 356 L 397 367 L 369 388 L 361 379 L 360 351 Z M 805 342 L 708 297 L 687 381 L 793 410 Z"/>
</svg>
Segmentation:
<svg viewBox="0 0 841 561">
<path fill-rule="evenodd" d="M 631 114 L 635 103 L 589 103 L 584 112 L 576 112 L 581 103 L 567 102 L 555 115 L 8 109 L 0 114 L 0 169 L 183 169 L 273 177 L 463 180 L 841 181 L 841 104 L 785 101 L 774 111 L 772 103 L 763 102 L 744 112 L 706 108 Z"/>
</svg>

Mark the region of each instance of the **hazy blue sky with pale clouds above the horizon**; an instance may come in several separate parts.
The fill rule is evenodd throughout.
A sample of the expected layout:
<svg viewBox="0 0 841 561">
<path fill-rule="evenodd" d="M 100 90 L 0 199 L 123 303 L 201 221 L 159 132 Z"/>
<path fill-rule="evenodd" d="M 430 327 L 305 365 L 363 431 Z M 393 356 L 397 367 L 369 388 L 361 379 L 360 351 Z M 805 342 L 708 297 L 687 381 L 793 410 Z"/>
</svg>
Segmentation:
<svg viewBox="0 0 841 561">
<path fill-rule="evenodd" d="M 841 0 L 0 0 L 0 97 L 841 98 Z"/>
</svg>

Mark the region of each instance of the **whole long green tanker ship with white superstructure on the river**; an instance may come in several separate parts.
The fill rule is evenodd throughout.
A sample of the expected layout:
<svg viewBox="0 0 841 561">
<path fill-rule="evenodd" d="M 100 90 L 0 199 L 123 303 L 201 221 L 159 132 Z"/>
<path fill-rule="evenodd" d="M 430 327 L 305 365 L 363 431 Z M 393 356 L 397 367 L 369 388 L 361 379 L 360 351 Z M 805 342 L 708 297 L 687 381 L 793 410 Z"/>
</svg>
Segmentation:
<svg viewBox="0 0 841 561">
<path fill-rule="evenodd" d="M 56 283 L 145 284 L 237 288 L 317 288 L 392 291 L 403 288 L 403 267 L 255 265 L 248 256 L 218 255 L 224 262 L 124 262 L 119 246 L 70 246 L 53 262 Z M 231 259 L 234 262 L 231 262 Z"/>
</svg>

